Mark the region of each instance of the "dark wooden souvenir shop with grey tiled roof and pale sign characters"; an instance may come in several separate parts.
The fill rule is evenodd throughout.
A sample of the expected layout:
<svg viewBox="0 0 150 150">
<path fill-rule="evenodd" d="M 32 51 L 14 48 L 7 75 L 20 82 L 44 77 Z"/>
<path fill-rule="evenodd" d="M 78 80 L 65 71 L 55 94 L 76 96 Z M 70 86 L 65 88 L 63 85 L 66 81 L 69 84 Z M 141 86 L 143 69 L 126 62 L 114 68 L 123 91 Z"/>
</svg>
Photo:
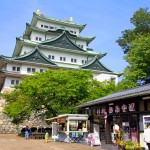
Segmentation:
<svg viewBox="0 0 150 150">
<path fill-rule="evenodd" d="M 77 108 L 78 113 L 89 115 L 90 132 L 97 127 L 101 141 L 106 144 L 112 143 L 113 126 L 117 124 L 126 139 L 144 147 L 144 118 L 150 123 L 150 84 L 113 93 Z"/>
</svg>

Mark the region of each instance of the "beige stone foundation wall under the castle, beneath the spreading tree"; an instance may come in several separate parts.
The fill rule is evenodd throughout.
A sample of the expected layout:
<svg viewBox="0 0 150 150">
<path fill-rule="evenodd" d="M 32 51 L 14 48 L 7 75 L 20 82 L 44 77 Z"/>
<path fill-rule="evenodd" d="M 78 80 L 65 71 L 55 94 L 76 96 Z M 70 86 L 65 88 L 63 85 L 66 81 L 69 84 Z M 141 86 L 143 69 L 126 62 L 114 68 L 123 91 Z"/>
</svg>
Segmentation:
<svg viewBox="0 0 150 150">
<path fill-rule="evenodd" d="M 5 107 L 5 100 L 0 98 L 0 134 L 1 133 L 17 133 L 20 132 L 22 128 L 25 126 L 31 127 L 50 127 L 46 122 L 45 118 L 42 116 L 35 117 L 35 115 L 31 115 L 29 120 L 25 120 L 22 124 L 19 124 L 19 126 L 16 126 L 15 124 L 11 123 L 11 119 L 7 117 L 3 113 L 3 109 Z"/>
</svg>

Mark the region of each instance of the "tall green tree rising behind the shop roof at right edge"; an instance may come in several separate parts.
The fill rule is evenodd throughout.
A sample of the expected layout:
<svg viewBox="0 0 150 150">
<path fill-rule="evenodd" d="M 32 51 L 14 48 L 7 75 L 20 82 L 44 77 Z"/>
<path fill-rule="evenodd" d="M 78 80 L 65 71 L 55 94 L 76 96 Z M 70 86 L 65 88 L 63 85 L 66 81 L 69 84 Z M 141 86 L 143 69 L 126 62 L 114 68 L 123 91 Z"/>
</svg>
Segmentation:
<svg viewBox="0 0 150 150">
<path fill-rule="evenodd" d="M 137 81 L 150 76 L 150 12 L 140 8 L 130 19 L 134 29 L 122 32 L 116 42 L 124 50 L 128 66 L 123 72 L 120 85 L 126 89 L 137 86 Z"/>
</svg>

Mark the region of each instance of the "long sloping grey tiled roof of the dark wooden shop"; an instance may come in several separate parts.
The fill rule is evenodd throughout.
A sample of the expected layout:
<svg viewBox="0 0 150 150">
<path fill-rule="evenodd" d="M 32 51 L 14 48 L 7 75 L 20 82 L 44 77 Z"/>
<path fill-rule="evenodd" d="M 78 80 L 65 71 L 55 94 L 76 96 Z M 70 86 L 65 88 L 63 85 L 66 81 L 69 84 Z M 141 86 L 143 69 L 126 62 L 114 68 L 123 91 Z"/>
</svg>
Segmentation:
<svg viewBox="0 0 150 150">
<path fill-rule="evenodd" d="M 127 89 L 121 92 L 116 92 L 108 96 L 83 103 L 77 107 L 81 108 L 81 107 L 92 106 L 92 105 L 96 105 L 96 104 L 100 104 L 104 102 L 111 102 L 114 100 L 120 100 L 120 99 L 149 95 L 149 94 L 150 94 L 150 84 L 146 84 L 143 86 L 138 86 L 135 88 Z"/>
</svg>

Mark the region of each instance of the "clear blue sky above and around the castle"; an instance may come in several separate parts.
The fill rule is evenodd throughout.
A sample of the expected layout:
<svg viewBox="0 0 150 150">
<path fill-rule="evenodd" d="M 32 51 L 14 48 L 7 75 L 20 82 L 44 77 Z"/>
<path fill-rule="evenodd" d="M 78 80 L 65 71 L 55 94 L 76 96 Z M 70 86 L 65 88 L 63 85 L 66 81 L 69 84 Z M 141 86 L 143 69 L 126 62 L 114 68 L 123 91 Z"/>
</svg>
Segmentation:
<svg viewBox="0 0 150 150">
<path fill-rule="evenodd" d="M 37 9 L 45 16 L 86 23 L 82 36 L 96 36 L 89 45 L 96 52 L 106 52 L 101 62 L 122 72 L 127 63 L 123 50 L 115 42 L 125 29 L 132 29 L 130 18 L 139 8 L 150 8 L 150 0 L 4 0 L 0 4 L 0 54 L 12 56 L 16 37 L 23 35 Z"/>
</svg>

